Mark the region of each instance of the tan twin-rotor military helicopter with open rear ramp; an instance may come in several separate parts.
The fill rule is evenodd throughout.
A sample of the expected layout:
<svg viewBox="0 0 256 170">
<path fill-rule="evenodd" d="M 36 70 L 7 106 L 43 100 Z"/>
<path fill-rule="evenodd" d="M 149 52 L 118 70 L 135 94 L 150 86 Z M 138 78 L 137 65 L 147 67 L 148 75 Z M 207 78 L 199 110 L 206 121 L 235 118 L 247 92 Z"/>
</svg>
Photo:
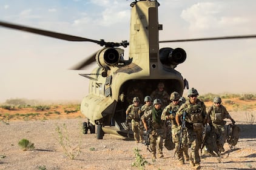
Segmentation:
<svg viewBox="0 0 256 170">
<path fill-rule="evenodd" d="M 81 102 L 81 113 L 89 120 L 84 123 L 84 128 L 94 133 L 97 125 L 97 139 L 103 139 L 104 133 L 126 137 L 129 134 L 124 126 L 125 111 L 130 104 L 126 96 L 135 85 L 140 87 L 144 96 L 150 95 L 159 82 L 165 84 L 165 90 L 169 94 L 173 91 L 183 94 L 184 88 L 188 88 L 187 80 L 175 70 L 178 64 L 186 60 L 186 52 L 182 48 L 159 49 L 159 43 L 256 38 L 256 35 L 246 35 L 159 41 L 158 31 L 163 29 L 158 24 L 159 5 L 158 1 L 150 0 L 130 4 L 129 42 L 105 42 L 103 39 L 96 41 L 1 21 L 0 25 L 66 41 L 88 41 L 101 45 L 101 50 L 73 68 L 81 70 L 95 61 L 98 64 L 92 73 L 80 74 L 90 80 L 89 94 Z M 124 50 L 120 47 L 128 45 L 129 59 L 126 60 Z"/>
</svg>

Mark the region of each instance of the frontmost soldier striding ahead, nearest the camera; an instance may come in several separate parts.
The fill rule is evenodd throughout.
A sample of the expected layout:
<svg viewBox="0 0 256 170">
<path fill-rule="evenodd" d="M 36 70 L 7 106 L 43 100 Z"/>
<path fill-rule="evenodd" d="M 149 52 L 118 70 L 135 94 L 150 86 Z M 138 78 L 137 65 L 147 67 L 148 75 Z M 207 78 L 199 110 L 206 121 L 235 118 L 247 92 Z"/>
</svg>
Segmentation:
<svg viewBox="0 0 256 170">
<path fill-rule="evenodd" d="M 198 92 L 195 88 L 189 89 L 187 96 L 189 97 L 189 100 L 181 105 L 177 111 L 175 119 L 177 125 L 181 128 L 180 117 L 184 117 L 190 144 L 189 163 L 192 168 L 200 169 L 201 160 L 199 149 L 202 142 L 203 125 L 207 120 L 206 106 L 204 105 L 204 102 L 197 99 Z"/>
</svg>

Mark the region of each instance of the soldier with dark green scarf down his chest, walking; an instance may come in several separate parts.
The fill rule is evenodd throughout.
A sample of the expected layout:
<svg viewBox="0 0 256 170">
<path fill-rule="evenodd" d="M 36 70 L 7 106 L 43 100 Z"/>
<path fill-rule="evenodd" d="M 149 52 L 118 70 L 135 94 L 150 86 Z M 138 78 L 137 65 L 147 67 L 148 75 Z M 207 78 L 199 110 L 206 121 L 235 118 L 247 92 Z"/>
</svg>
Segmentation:
<svg viewBox="0 0 256 170">
<path fill-rule="evenodd" d="M 161 120 L 161 100 L 153 100 L 152 110 L 146 111 L 143 116 L 141 116 L 144 128 L 146 131 L 149 129 L 147 122 L 150 122 L 150 127 L 152 131 L 150 133 L 150 148 L 152 150 L 152 159 L 155 160 L 157 151 L 159 158 L 164 157 L 163 155 L 163 136 L 164 136 L 164 122 Z M 150 120 L 150 121 L 147 121 Z"/>
</svg>

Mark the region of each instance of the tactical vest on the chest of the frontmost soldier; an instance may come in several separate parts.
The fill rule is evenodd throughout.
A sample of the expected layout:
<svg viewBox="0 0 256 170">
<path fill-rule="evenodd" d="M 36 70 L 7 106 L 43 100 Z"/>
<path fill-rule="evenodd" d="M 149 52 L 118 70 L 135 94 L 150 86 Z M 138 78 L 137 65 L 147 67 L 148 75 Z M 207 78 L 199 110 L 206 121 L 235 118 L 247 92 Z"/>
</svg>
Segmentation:
<svg viewBox="0 0 256 170">
<path fill-rule="evenodd" d="M 196 105 L 187 105 L 186 122 L 189 123 L 202 123 L 203 122 L 203 105 L 202 102 L 197 102 Z"/>
</svg>

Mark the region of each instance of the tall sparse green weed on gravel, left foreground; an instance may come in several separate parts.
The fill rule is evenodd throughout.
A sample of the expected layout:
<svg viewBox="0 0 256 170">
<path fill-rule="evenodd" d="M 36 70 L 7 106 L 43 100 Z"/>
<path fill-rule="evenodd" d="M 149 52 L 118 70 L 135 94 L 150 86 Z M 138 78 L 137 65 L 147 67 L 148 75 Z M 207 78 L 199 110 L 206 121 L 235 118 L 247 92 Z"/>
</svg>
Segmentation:
<svg viewBox="0 0 256 170">
<path fill-rule="evenodd" d="M 83 136 L 83 128 L 82 123 L 79 122 L 79 140 L 72 142 L 69 137 L 69 132 L 67 131 L 67 125 L 64 123 L 61 126 L 56 125 L 57 137 L 56 140 L 62 146 L 64 154 L 69 157 L 69 159 L 75 159 L 81 152 L 82 145 L 82 136 Z M 77 144 L 78 143 L 78 144 Z"/>
</svg>

